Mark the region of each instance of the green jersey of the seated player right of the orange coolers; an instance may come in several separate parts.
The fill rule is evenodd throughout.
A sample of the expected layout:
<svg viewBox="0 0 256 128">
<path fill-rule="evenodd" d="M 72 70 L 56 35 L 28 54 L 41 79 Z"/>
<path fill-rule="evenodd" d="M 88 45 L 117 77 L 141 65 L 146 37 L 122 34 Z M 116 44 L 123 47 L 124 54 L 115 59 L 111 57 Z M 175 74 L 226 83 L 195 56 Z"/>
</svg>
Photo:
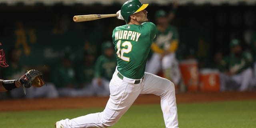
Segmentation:
<svg viewBox="0 0 256 128">
<path fill-rule="evenodd" d="M 220 71 L 228 70 L 237 74 L 252 66 L 252 62 L 253 58 L 249 52 L 243 52 L 240 58 L 236 58 L 234 54 L 230 54 L 221 60 L 219 69 Z"/>
</svg>

